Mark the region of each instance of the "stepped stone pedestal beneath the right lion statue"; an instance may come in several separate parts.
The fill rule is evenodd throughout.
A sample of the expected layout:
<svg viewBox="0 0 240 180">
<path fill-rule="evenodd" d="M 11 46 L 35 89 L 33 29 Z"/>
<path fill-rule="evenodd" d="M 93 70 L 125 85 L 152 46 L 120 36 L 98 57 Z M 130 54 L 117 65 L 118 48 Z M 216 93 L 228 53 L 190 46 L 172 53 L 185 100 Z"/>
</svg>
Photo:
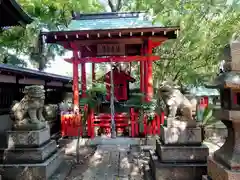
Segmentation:
<svg viewBox="0 0 240 180">
<path fill-rule="evenodd" d="M 154 180 L 201 180 L 207 173 L 208 148 L 202 145 L 201 128 L 161 128 L 156 151 L 150 151 Z"/>
</svg>

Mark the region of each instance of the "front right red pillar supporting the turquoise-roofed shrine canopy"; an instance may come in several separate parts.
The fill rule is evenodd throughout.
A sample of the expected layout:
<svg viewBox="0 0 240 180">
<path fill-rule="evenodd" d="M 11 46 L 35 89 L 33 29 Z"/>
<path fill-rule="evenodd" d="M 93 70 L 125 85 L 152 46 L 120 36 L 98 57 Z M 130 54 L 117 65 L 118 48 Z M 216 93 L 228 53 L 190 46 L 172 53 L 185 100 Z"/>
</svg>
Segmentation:
<svg viewBox="0 0 240 180">
<path fill-rule="evenodd" d="M 150 60 L 149 57 L 152 56 L 152 41 L 148 40 L 148 46 L 147 46 L 147 57 L 148 60 L 145 63 L 145 78 L 146 78 L 146 101 L 151 101 L 153 97 L 153 79 L 152 79 L 152 60 Z"/>
</svg>

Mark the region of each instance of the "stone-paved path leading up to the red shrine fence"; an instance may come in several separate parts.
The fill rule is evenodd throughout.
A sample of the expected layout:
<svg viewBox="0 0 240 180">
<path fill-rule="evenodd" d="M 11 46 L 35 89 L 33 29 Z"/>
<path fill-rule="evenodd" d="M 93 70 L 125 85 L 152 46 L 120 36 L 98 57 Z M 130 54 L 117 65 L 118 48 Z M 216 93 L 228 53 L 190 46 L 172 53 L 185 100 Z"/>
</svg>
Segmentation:
<svg viewBox="0 0 240 180">
<path fill-rule="evenodd" d="M 98 145 L 88 167 L 68 180 L 142 180 L 138 153 L 130 145 Z M 75 170 L 74 170 L 75 171 Z M 76 171 L 75 171 L 76 172 Z"/>
</svg>

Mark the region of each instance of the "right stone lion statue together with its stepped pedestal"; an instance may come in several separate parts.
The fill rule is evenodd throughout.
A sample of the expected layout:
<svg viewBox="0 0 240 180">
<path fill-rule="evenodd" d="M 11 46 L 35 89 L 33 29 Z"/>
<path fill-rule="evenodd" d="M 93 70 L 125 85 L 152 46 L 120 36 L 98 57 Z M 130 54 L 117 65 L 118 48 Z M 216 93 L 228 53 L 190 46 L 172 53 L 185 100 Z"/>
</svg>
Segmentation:
<svg viewBox="0 0 240 180">
<path fill-rule="evenodd" d="M 202 131 L 192 117 L 191 103 L 179 90 L 164 89 L 161 96 L 169 114 L 167 126 L 161 126 L 156 140 L 156 151 L 150 150 L 151 175 L 154 180 L 201 180 L 207 172 L 208 148 L 202 145 Z"/>
</svg>

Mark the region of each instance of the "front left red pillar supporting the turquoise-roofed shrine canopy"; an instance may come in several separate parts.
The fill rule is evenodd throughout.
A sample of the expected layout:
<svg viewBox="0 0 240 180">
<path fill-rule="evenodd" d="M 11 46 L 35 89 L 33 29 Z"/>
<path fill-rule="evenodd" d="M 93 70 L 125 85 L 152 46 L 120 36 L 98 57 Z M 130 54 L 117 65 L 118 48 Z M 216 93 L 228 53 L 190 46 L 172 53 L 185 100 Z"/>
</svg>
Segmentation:
<svg viewBox="0 0 240 180">
<path fill-rule="evenodd" d="M 75 113 L 79 113 L 79 86 L 78 86 L 78 50 L 74 44 L 71 44 L 73 48 L 73 110 Z"/>
</svg>

